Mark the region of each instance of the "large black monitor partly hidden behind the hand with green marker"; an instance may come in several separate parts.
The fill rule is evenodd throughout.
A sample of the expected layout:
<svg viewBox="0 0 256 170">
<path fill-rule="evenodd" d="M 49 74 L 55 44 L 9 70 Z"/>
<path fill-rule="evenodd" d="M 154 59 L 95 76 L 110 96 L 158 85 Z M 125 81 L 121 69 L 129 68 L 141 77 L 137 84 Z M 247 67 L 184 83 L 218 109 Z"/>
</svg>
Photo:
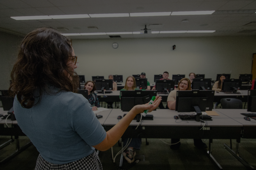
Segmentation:
<svg viewBox="0 0 256 170">
<path fill-rule="evenodd" d="M 128 112 L 137 104 L 148 103 L 151 100 L 152 96 L 156 95 L 156 90 L 120 91 L 121 110 L 123 112 Z"/>
</svg>

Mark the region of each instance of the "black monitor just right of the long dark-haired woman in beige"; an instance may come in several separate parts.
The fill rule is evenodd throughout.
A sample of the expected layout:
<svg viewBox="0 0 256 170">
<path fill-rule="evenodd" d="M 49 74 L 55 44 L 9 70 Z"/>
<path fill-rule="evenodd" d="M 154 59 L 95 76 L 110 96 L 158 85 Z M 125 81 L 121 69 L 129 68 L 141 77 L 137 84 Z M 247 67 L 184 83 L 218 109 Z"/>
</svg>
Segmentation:
<svg viewBox="0 0 256 170">
<path fill-rule="evenodd" d="M 237 93 L 236 91 L 241 87 L 242 81 L 240 79 L 224 79 L 222 82 L 221 91 Z"/>
</svg>

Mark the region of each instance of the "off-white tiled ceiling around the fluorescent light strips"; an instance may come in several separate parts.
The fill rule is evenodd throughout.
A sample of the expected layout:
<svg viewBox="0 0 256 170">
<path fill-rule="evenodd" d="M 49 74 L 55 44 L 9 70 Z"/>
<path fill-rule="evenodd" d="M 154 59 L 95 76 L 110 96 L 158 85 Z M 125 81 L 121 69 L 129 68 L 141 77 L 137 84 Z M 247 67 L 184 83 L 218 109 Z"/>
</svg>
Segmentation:
<svg viewBox="0 0 256 170">
<path fill-rule="evenodd" d="M 109 14 L 215 10 L 211 15 L 14 20 L 16 16 Z M 226 11 L 228 10 L 228 11 Z M 231 11 L 239 10 L 239 11 Z M 163 24 L 152 31 L 216 30 L 214 33 L 123 34 L 122 38 L 256 35 L 256 0 L 0 0 L 0 31 L 26 35 L 39 27 L 63 33 L 136 32 L 147 24 Z M 225 11 L 225 12 L 223 12 Z M 233 14 L 227 14 L 227 13 Z M 226 13 L 226 14 L 223 14 Z M 182 22 L 188 20 L 188 22 Z M 250 26 L 251 25 L 251 26 Z M 88 28 L 97 27 L 97 28 Z M 60 29 L 65 28 L 65 29 Z M 239 33 L 246 30 L 247 33 Z M 249 31 L 248 31 L 249 30 Z M 252 31 L 252 32 L 250 32 Z M 248 33 L 250 32 L 250 33 Z M 109 35 L 71 36 L 72 39 L 110 38 Z"/>
</svg>

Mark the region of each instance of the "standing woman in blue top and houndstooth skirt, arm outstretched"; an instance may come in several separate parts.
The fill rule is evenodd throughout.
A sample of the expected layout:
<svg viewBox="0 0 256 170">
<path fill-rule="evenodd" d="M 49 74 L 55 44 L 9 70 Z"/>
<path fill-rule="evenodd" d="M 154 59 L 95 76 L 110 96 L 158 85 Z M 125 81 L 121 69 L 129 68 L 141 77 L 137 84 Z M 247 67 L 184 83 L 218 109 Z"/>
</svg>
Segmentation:
<svg viewBox="0 0 256 170">
<path fill-rule="evenodd" d="M 69 38 L 52 28 L 30 32 L 20 45 L 9 93 L 19 127 L 40 153 L 36 170 L 102 169 L 95 148 L 111 148 L 136 114 L 161 101 L 133 107 L 105 132 L 88 100 L 74 93 L 76 61 Z"/>
</svg>

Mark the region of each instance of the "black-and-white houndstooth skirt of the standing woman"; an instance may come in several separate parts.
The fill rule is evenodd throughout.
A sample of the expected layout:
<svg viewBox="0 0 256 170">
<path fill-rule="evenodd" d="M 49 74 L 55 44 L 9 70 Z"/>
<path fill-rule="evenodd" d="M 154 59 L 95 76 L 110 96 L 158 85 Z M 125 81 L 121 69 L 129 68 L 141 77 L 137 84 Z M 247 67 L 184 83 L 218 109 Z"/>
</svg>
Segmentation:
<svg viewBox="0 0 256 170">
<path fill-rule="evenodd" d="M 96 151 L 92 154 L 79 159 L 74 162 L 66 163 L 66 164 L 52 164 L 46 160 L 44 160 L 41 155 L 39 154 L 37 161 L 36 161 L 36 168 L 35 170 L 80 170 L 80 169 L 95 169 L 95 170 L 102 170 L 102 165 L 97 155 Z"/>
</svg>

